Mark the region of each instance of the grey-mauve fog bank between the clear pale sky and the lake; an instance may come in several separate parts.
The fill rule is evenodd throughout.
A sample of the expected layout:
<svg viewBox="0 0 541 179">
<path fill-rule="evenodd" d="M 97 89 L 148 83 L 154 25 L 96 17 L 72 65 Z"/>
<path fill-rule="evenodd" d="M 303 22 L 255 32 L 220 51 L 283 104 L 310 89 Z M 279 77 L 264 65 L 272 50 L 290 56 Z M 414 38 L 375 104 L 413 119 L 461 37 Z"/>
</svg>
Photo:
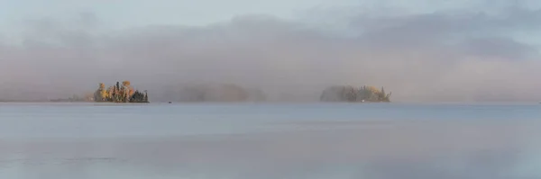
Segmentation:
<svg viewBox="0 0 541 179">
<path fill-rule="evenodd" d="M 26 21 L 19 42 L 0 43 L 0 99 L 65 97 L 130 80 L 154 101 L 190 83 L 261 89 L 271 101 L 317 101 L 329 85 L 385 86 L 396 102 L 536 101 L 540 55 L 521 39 L 536 38 L 540 19 L 520 6 L 359 14 L 345 21 L 347 36 L 267 15 L 118 31 L 100 29 L 93 13 Z"/>
</svg>

